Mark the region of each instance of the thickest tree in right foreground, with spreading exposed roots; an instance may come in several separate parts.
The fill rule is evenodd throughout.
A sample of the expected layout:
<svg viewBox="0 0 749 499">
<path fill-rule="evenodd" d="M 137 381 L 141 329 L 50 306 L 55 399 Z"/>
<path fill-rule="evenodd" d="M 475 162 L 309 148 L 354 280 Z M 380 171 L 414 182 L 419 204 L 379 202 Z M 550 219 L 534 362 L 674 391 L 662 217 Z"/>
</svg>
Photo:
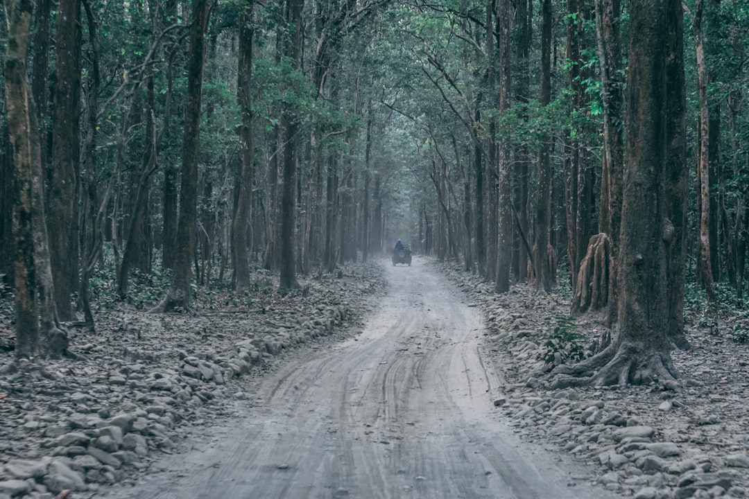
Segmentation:
<svg viewBox="0 0 749 499">
<path fill-rule="evenodd" d="M 560 366 L 557 386 L 679 378 L 670 358 L 675 324 L 669 301 L 682 304 L 684 280 L 670 274 L 669 260 L 682 258 L 673 248 L 683 221 L 672 206 L 685 199 L 679 180 L 686 165 L 671 163 L 667 154 L 668 140 L 684 132 L 682 16 L 679 0 L 631 2 L 616 337 L 598 355 Z M 684 260 L 673 265 L 679 263 Z"/>
</svg>

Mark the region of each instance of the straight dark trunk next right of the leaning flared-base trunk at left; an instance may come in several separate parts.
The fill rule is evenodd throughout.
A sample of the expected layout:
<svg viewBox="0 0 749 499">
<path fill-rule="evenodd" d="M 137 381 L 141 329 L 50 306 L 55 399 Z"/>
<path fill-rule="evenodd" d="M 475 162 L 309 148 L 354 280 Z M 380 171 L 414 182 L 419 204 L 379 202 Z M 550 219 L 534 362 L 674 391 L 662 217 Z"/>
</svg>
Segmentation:
<svg viewBox="0 0 749 499">
<path fill-rule="evenodd" d="M 231 261 L 234 264 L 234 290 L 249 286 L 252 276 L 249 272 L 247 254 L 247 227 L 249 210 L 252 206 L 252 176 L 255 146 L 252 137 L 252 43 L 255 28 L 252 26 L 253 0 L 246 1 L 240 16 L 239 26 L 239 70 L 237 91 L 239 92 L 242 114 L 241 140 L 242 162 L 234 180 L 236 208 L 231 223 Z"/>
</svg>

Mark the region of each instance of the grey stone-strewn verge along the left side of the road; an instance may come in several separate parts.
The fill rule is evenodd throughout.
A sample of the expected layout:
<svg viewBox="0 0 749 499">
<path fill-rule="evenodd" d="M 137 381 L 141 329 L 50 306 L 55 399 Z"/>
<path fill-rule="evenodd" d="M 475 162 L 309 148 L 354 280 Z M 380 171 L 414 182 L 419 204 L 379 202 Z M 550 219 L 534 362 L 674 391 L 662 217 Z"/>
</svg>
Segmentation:
<svg viewBox="0 0 749 499">
<path fill-rule="evenodd" d="M 96 333 L 70 330 L 81 359 L 43 370 L 10 369 L 12 353 L 1 352 L 0 499 L 91 498 L 135 480 L 246 399 L 276 359 L 354 334 L 383 290 L 381 272 L 345 267 L 287 296 L 260 275 L 243 300 L 198 297 L 195 316 L 120 304 L 101 311 Z"/>
</svg>

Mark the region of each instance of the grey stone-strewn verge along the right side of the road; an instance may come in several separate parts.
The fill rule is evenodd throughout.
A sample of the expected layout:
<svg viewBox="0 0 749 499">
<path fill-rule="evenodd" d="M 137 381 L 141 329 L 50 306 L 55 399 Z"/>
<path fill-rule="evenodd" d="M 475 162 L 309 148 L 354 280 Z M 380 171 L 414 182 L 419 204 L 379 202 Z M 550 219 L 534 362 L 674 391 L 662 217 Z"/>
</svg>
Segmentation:
<svg viewBox="0 0 749 499">
<path fill-rule="evenodd" d="M 690 326 L 693 349 L 672 352 L 684 376 L 675 390 L 553 390 L 542 358 L 559 318 L 568 316 L 569 298 L 539 296 L 524 285 L 497 295 L 476 275 L 439 267 L 484 313 L 486 353 L 507 382 L 494 405 L 527 441 L 571 453 L 623 497 L 748 497 L 748 345 Z M 574 328 L 590 339 L 604 332 L 594 319 L 577 319 Z"/>
</svg>

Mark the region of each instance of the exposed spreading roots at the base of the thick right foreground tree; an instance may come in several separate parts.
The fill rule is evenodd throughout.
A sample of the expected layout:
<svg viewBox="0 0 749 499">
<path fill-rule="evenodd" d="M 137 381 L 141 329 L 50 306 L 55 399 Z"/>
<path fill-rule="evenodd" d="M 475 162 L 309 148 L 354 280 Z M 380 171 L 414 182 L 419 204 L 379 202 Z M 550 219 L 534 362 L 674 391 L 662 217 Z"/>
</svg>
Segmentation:
<svg viewBox="0 0 749 499">
<path fill-rule="evenodd" d="M 632 344 L 609 346 L 598 355 L 554 371 L 553 388 L 610 385 L 646 385 L 679 379 L 670 356 L 643 352 Z"/>
</svg>

